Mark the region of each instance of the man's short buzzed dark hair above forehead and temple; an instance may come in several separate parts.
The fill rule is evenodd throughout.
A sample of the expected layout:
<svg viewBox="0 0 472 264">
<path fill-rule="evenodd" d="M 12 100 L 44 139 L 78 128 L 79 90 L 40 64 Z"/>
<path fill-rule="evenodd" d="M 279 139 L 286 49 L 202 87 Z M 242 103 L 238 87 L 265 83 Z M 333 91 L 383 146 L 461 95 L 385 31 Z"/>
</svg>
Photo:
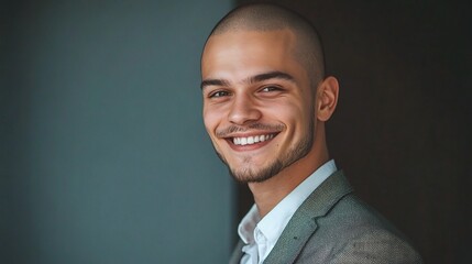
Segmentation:
<svg viewBox="0 0 472 264">
<path fill-rule="evenodd" d="M 286 8 L 255 3 L 239 7 L 224 15 L 208 38 L 235 31 L 289 30 L 296 36 L 294 56 L 305 67 L 311 86 L 325 78 L 325 56 L 321 40 L 315 26 L 300 14 Z"/>
</svg>

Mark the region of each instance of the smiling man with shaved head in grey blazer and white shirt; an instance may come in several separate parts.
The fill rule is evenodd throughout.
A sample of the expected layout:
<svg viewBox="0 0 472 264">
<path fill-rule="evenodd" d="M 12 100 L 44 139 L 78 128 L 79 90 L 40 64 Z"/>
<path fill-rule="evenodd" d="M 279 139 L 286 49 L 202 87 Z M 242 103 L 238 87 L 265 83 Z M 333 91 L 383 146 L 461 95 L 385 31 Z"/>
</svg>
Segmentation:
<svg viewBox="0 0 472 264">
<path fill-rule="evenodd" d="M 305 19 L 270 4 L 233 10 L 207 40 L 201 77 L 207 132 L 255 201 L 231 263 L 421 263 L 329 157 L 339 85 Z"/>
</svg>

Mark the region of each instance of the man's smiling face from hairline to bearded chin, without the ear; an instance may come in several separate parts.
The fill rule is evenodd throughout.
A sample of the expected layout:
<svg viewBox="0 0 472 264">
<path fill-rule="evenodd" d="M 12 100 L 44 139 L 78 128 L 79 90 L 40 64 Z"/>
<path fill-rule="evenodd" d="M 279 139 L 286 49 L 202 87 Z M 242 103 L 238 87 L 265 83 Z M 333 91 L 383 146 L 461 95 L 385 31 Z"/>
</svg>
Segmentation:
<svg viewBox="0 0 472 264">
<path fill-rule="evenodd" d="M 205 47 L 205 127 L 239 182 L 263 182 L 312 151 L 315 95 L 295 41 L 288 30 L 238 31 Z"/>
</svg>

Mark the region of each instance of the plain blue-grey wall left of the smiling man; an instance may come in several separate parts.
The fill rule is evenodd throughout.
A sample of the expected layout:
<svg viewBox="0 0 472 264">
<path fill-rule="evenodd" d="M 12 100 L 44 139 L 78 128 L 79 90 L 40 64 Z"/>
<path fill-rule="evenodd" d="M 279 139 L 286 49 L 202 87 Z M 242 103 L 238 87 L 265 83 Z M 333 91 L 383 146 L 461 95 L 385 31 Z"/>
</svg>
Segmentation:
<svg viewBox="0 0 472 264">
<path fill-rule="evenodd" d="M 199 56 L 230 1 L 2 1 L 0 262 L 224 263 Z"/>
</svg>

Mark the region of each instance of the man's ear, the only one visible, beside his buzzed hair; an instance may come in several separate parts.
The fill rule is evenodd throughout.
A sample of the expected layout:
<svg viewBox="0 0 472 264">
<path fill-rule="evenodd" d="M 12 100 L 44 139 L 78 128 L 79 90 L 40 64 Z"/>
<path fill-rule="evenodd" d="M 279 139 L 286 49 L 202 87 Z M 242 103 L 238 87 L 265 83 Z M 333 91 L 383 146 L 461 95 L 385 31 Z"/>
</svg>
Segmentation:
<svg viewBox="0 0 472 264">
<path fill-rule="evenodd" d="M 318 85 L 317 89 L 317 119 L 328 121 L 338 105 L 339 84 L 329 76 Z"/>
</svg>

